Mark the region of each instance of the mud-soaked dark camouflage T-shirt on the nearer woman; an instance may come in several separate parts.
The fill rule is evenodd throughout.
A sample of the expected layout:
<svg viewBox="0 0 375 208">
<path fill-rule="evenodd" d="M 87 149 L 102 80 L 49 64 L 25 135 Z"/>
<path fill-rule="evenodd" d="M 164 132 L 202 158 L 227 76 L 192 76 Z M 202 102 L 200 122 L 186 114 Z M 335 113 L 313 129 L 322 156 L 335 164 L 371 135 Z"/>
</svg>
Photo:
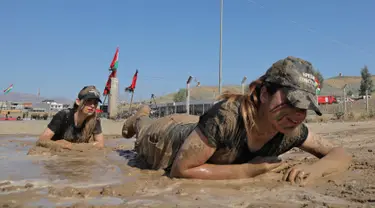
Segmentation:
<svg viewBox="0 0 375 208">
<path fill-rule="evenodd" d="M 239 101 L 220 101 L 215 104 L 201 116 L 198 127 L 209 143 L 217 148 L 209 160 L 215 164 L 239 164 L 257 156 L 278 156 L 302 145 L 308 135 L 307 127 L 301 125 L 297 136 L 287 137 L 278 133 L 261 149 L 250 152 Z"/>
</svg>

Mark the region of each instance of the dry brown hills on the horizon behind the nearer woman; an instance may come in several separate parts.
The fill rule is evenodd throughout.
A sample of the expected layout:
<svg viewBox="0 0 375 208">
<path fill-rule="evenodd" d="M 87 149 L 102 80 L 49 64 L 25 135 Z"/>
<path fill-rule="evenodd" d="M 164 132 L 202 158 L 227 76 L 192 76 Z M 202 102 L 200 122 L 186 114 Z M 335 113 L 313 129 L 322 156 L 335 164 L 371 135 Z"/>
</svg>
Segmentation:
<svg viewBox="0 0 375 208">
<path fill-rule="evenodd" d="M 375 84 L 375 76 L 372 76 Z M 348 84 L 347 91 L 351 90 L 354 94 L 358 93 L 359 86 L 361 83 L 360 76 L 341 76 L 332 77 L 324 80 L 323 88 L 321 90 L 321 95 L 335 95 L 342 96 L 345 84 Z M 247 86 L 246 86 L 247 87 Z M 241 86 L 239 85 L 229 85 L 223 86 L 223 91 L 231 92 L 241 92 Z M 157 103 L 169 103 L 173 102 L 173 97 L 175 93 L 167 94 L 155 98 Z M 200 86 L 193 87 L 190 91 L 191 100 L 213 100 L 218 95 L 217 86 Z"/>
</svg>

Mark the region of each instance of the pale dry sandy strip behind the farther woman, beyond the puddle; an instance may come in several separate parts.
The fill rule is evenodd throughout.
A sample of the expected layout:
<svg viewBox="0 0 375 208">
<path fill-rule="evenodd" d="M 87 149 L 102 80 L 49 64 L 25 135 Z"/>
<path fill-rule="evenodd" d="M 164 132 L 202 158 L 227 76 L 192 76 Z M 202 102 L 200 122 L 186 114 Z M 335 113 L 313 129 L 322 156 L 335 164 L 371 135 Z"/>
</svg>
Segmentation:
<svg viewBox="0 0 375 208">
<path fill-rule="evenodd" d="M 102 119 L 103 134 L 109 138 L 121 137 L 124 121 Z M 0 121 L 1 135 L 38 136 L 47 127 L 50 120 Z"/>
</svg>

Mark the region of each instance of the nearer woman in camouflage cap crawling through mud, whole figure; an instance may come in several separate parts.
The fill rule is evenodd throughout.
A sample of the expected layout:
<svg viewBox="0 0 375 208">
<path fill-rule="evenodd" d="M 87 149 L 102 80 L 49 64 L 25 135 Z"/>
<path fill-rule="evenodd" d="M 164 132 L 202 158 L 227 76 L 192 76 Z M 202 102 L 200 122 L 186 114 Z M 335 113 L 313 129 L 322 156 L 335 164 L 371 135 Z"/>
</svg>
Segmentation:
<svg viewBox="0 0 375 208">
<path fill-rule="evenodd" d="M 200 117 L 149 118 L 142 106 L 125 121 L 122 134 L 136 134 L 135 151 L 151 169 L 171 177 L 239 179 L 273 171 L 278 156 L 298 147 L 319 160 L 290 168 L 283 180 L 301 185 L 344 171 L 351 156 L 314 134 L 303 123 L 307 110 L 322 115 L 316 103 L 311 63 L 287 57 L 249 85 L 245 95 L 224 94 Z M 279 167 L 280 168 L 280 167 Z"/>
</svg>

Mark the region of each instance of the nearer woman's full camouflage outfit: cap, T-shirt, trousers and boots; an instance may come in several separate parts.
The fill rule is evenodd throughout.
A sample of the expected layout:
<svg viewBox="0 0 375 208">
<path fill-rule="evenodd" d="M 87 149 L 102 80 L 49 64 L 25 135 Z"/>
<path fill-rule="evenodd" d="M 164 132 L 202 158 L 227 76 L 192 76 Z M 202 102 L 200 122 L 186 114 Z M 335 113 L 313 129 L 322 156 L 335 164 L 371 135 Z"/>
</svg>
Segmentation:
<svg viewBox="0 0 375 208">
<path fill-rule="evenodd" d="M 315 99 L 315 77 L 309 62 L 287 57 L 275 62 L 261 79 L 280 85 L 295 107 L 314 110 L 321 115 Z M 124 123 L 123 136 L 131 138 L 137 134 L 135 151 L 152 169 L 169 171 L 184 140 L 195 128 L 199 128 L 209 145 L 216 148 L 207 161 L 213 164 L 240 164 L 257 156 L 278 156 L 302 145 L 308 135 L 308 128 L 302 124 L 297 135 L 278 133 L 261 149 L 250 151 L 241 100 L 217 102 L 200 117 L 175 114 L 152 120 L 149 112 L 148 106 L 142 106 Z"/>
</svg>

